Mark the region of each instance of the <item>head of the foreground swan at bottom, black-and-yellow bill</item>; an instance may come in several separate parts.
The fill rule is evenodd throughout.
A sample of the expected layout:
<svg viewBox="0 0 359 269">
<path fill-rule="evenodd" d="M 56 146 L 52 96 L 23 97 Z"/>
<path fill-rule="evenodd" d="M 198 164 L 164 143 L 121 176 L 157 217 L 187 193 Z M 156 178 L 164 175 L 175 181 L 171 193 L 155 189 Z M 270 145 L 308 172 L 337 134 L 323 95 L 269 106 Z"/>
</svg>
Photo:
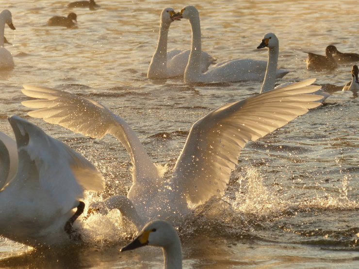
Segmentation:
<svg viewBox="0 0 359 269">
<path fill-rule="evenodd" d="M 174 244 L 180 245 L 177 230 L 165 221 L 148 222 L 140 234 L 120 251 L 133 250 L 144 246 L 170 248 Z"/>
</svg>

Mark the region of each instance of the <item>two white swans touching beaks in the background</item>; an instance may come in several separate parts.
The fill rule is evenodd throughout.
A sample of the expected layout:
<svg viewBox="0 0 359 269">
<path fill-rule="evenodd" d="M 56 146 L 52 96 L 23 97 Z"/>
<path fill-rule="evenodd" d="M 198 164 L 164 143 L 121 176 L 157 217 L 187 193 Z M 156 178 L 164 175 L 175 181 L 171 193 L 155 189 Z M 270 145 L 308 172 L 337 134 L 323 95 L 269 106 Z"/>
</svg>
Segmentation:
<svg viewBox="0 0 359 269">
<path fill-rule="evenodd" d="M 170 24 L 180 18 L 189 19 L 192 30 L 191 49 L 167 51 L 167 35 Z M 161 13 L 158 45 L 148 68 L 147 78 L 165 79 L 184 76 L 185 83 L 232 82 L 262 80 L 267 62 L 252 59 L 232 59 L 217 63 L 206 71 L 214 59 L 201 48 L 199 13 L 194 6 L 186 6 L 179 13 L 165 8 Z M 289 71 L 278 69 L 276 77 L 282 78 Z"/>
</svg>

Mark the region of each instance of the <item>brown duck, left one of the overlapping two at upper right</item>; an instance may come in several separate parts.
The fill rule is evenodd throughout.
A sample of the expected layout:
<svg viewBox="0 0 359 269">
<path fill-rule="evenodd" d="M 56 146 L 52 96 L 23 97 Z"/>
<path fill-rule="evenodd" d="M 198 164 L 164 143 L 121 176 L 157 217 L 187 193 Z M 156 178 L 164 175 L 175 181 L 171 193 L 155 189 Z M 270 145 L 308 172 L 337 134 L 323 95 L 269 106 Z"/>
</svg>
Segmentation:
<svg viewBox="0 0 359 269">
<path fill-rule="evenodd" d="M 325 69 L 334 70 L 338 67 L 338 63 L 334 60 L 333 54 L 337 52 L 337 49 L 334 46 L 326 47 L 326 56 L 305 52 L 308 53 L 307 68 L 314 71 L 322 71 Z"/>
</svg>

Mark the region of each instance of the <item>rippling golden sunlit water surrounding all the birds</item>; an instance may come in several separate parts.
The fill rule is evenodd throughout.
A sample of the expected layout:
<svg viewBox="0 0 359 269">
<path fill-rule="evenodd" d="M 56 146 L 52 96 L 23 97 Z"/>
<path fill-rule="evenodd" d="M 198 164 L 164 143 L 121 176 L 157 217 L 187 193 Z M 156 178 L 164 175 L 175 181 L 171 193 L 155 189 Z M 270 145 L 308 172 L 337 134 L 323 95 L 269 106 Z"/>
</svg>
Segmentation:
<svg viewBox="0 0 359 269">
<path fill-rule="evenodd" d="M 351 80 L 351 64 L 315 73 L 306 69 L 303 51 L 324 54 L 333 44 L 358 52 L 358 26 L 349 16 L 356 14 L 353 1 L 98 0 L 99 10 L 72 10 L 75 29 L 46 26 L 50 16 L 70 12 L 68 1 L 10 2 L 0 8 L 13 14 L 16 31 L 6 26 L 5 36 L 16 66 L 0 72 L 1 130 L 13 136 L 6 117 L 19 115 L 94 162 L 107 188 L 89 194 L 86 204 L 127 193 L 131 163 L 125 149 L 112 136 L 89 139 L 28 117 L 20 104 L 28 99 L 22 84 L 96 99 L 123 117 L 150 157 L 170 172 L 197 119 L 258 93 L 261 82 L 193 86 L 146 79 L 163 8 L 195 5 L 202 49 L 218 62 L 266 60 L 267 50 L 256 47 L 264 33 L 276 33 L 279 66 L 293 71 L 278 83 L 314 77 L 318 84 L 343 87 Z M 169 49 L 189 48 L 190 39 L 188 21 L 172 23 Z M 351 92 L 334 92 L 324 106 L 248 143 L 225 197 L 196 208 L 179 227 L 184 268 L 358 268 L 358 108 Z M 0 267 L 162 268 L 160 249 L 118 252 L 135 232 L 117 211 L 84 219 L 76 223 L 85 243 L 66 249 L 34 251 L 0 238 Z"/>
</svg>

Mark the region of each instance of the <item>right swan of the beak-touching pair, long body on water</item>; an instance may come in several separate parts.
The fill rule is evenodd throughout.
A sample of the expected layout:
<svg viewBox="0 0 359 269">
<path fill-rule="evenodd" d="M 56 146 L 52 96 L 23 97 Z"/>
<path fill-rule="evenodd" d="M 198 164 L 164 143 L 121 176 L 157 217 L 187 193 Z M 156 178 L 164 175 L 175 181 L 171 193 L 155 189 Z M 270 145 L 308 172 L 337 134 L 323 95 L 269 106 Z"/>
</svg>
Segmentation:
<svg viewBox="0 0 359 269">
<path fill-rule="evenodd" d="M 192 30 L 192 48 L 184 72 L 185 83 L 231 82 L 241 80 L 262 80 L 267 67 L 266 61 L 233 59 L 217 63 L 207 72 L 199 69 L 201 51 L 201 26 L 199 14 L 194 6 L 186 6 L 179 12 L 179 18 L 188 19 Z M 288 74 L 287 70 L 277 70 L 277 77 Z"/>
</svg>

